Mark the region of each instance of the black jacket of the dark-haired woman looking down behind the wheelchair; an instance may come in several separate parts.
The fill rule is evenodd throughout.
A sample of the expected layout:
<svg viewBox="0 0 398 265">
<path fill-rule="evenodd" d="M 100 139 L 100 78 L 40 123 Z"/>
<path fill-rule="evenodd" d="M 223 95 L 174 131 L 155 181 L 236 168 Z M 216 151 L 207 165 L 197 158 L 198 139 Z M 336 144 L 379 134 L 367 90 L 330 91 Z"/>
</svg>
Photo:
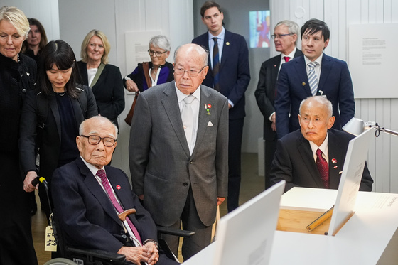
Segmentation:
<svg viewBox="0 0 398 265">
<path fill-rule="evenodd" d="M 72 99 L 77 127 L 87 118 L 96 116 L 97 105 L 90 87 L 82 86 L 80 97 Z M 40 105 L 40 106 L 39 106 Z M 41 113 L 41 111 L 45 112 Z M 38 121 L 43 120 L 43 124 Z M 39 175 L 50 183 L 58 166 L 61 148 L 61 124 L 55 94 L 48 97 L 40 90 L 28 92 L 21 115 L 19 146 L 23 173 L 36 171 L 36 143 L 40 148 Z"/>
</svg>

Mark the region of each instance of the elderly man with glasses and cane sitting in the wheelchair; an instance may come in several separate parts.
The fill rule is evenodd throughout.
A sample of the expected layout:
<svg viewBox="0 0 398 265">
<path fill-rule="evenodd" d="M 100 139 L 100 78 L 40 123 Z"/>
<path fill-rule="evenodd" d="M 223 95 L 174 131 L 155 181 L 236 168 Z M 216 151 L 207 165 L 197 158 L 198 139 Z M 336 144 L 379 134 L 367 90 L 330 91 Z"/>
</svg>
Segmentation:
<svg viewBox="0 0 398 265">
<path fill-rule="evenodd" d="M 55 215 L 68 246 L 117 252 L 133 264 L 178 264 L 158 253 L 156 225 L 127 175 L 105 166 L 117 144 L 117 127 L 105 117 L 92 117 L 80 125 L 76 142 L 80 157 L 54 171 L 52 182 Z M 131 208 L 136 215 L 128 216 L 129 227 L 139 247 L 127 242 L 118 217 Z"/>
</svg>

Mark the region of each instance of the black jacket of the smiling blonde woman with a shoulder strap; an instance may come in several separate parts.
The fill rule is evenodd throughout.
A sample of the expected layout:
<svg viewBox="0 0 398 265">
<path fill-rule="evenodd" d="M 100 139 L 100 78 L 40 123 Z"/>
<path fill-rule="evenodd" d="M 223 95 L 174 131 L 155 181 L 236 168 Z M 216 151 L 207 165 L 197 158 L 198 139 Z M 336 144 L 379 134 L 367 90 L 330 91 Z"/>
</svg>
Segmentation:
<svg viewBox="0 0 398 265">
<path fill-rule="evenodd" d="M 82 84 L 88 85 L 87 63 L 79 61 L 77 67 L 82 77 Z M 92 87 L 92 94 L 97 102 L 99 114 L 117 124 L 117 117 L 124 109 L 124 89 L 119 67 L 105 65 L 97 83 Z"/>
</svg>

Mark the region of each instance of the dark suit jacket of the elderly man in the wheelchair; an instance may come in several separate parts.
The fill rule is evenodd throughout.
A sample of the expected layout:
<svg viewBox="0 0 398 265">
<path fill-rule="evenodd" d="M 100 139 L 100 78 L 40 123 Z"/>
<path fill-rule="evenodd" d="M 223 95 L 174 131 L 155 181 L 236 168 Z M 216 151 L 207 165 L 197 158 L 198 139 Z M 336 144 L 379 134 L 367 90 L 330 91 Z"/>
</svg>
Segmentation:
<svg viewBox="0 0 398 265">
<path fill-rule="evenodd" d="M 129 215 L 129 218 L 141 240 L 157 241 L 156 225 L 138 197 L 131 192 L 127 175 L 111 166 L 105 166 L 105 171 L 124 210 L 136 209 L 136 214 Z M 54 171 L 52 190 L 55 215 L 68 245 L 109 252 L 118 252 L 124 246 L 126 239 L 122 222 L 82 158 L 78 157 Z"/>
</svg>

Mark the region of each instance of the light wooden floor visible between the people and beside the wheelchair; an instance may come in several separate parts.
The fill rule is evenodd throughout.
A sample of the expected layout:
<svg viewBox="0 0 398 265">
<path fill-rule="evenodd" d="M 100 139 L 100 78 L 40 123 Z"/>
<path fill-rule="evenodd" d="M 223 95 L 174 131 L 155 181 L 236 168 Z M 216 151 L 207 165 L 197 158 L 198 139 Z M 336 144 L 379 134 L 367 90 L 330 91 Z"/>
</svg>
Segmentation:
<svg viewBox="0 0 398 265">
<path fill-rule="evenodd" d="M 264 190 L 264 177 L 258 175 L 257 153 L 242 153 L 242 183 L 240 190 L 240 205 L 247 202 L 255 195 Z M 37 193 L 37 192 L 36 192 Z M 36 202 L 40 202 L 36 194 Z M 44 235 L 47 220 L 45 220 L 44 212 L 40 210 L 32 217 L 32 233 L 33 243 L 35 244 L 36 255 L 38 256 L 38 264 L 43 265 L 51 259 L 50 252 L 44 251 Z M 227 214 L 226 201 L 220 206 L 220 215 Z M 180 250 L 181 251 L 181 250 Z M 179 255 L 180 258 L 181 255 Z"/>
</svg>

